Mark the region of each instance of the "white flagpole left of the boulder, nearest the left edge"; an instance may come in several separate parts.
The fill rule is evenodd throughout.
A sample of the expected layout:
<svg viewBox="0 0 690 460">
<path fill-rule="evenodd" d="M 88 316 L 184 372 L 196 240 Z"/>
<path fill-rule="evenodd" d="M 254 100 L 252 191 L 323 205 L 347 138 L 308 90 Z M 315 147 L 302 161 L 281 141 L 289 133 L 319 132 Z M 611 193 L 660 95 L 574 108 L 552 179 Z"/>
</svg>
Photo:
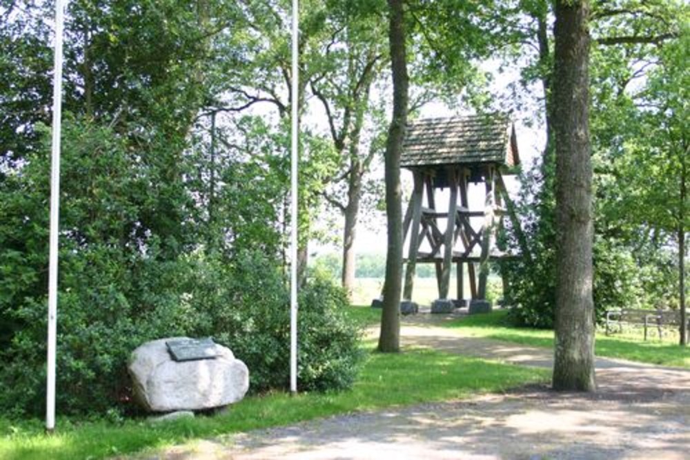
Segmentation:
<svg viewBox="0 0 690 460">
<path fill-rule="evenodd" d="M 62 121 L 63 0 L 55 1 L 55 70 L 52 89 L 52 160 L 50 166 L 50 254 L 48 256 L 48 379 L 46 430 L 55 429 L 55 349 L 57 348 L 57 258 L 60 207 L 60 136 Z"/>
</svg>

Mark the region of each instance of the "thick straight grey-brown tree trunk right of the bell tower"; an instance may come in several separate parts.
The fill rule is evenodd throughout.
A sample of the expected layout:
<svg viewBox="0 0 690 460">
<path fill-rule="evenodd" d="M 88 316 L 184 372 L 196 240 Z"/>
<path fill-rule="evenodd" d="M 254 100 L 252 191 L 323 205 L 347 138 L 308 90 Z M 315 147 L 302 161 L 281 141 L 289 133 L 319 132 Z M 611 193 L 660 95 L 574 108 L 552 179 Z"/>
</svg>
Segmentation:
<svg viewBox="0 0 690 460">
<path fill-rule="evenodd" d="M 589 146 L 589 1 L 557 0 L 553 74 L 557 284 L 555 390 L 593 391 L 592 166 Z"/>
</svg>

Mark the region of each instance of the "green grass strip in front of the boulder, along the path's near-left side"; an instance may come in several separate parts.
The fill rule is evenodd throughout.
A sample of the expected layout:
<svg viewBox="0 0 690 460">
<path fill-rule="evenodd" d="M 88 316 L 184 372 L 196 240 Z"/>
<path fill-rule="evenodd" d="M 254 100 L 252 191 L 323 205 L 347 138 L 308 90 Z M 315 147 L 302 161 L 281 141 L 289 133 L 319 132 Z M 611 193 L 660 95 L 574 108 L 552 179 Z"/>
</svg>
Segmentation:
<svg viewBox="0 0 690 460">
<path fill-rule="evenodd" d="M 40 421 L 12 423 L 0 418 L 0 459 L 99 459 L 333 414 L 497 392 L 548 378 L 545 370 L 433 350 L 405 350 L 401 354 L 371 352 L 351 391 L 248 397 L 232 406 L 229 413 L 215 417 L 157 425 L 141 420 L 110 423 L 59 419 L 58 432 L 50 437 L 43 434 Z"/>
</svg>

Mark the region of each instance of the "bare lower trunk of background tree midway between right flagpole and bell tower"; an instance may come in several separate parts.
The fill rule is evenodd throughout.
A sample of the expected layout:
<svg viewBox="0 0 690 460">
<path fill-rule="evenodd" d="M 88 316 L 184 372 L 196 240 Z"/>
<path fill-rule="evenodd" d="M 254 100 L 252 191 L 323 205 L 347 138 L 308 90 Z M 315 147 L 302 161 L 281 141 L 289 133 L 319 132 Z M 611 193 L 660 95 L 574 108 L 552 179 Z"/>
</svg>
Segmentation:
<svg viewBox="0 0 690 460">
<path fill-rule="evenodd" d="M 359 200 L 362 196 L 362 161 L 351 157 L 348 177 L 348 201 L 345 207 L 345 230 L 343 234 L 343 270 L 342 285 L 351 297 L 355 288 L 355 237 L 357 236 L 357 217 Z"/>
</svg>

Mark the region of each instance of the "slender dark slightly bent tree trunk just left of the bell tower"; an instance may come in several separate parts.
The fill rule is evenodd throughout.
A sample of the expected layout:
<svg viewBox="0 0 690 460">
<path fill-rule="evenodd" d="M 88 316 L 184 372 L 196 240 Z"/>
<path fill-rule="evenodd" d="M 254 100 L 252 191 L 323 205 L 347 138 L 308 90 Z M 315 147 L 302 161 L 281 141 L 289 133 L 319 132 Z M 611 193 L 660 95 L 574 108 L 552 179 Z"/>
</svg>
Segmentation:
<svg viewBox="0 0 690 460">
<path fill-rule="evenodd" d="M 400 288 L 402 283 L 402 187 L 400 154 L 407 123 L 408 77 L 402 0 L 388 0 L 388 41 L 393 73 L 393 119 L 386 140 L 386 220 L 388 249 L 378 349 L 400 351 Z"/>
</svg>

